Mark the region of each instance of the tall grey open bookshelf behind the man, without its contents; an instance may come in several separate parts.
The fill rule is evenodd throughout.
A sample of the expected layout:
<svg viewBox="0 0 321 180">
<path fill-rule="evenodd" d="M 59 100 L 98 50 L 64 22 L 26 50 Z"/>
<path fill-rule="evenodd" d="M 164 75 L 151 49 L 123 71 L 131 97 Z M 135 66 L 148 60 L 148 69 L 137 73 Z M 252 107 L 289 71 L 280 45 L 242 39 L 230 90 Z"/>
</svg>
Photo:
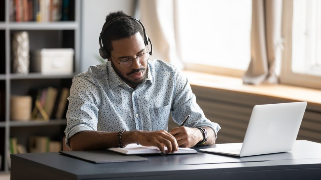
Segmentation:
<svg viewBox="0 0 321 180">
<path fill-rule="evenodd" d="M 8 150 L 11 137 L 16 137 L 18 142 L 27 149 L 29 137 L 33 135 L 48 136 L 52 140 L 62 141 L 67 123 L 65 118 L 49 119 L 49 121 L 13 121 L 10 117 L 10 96 L 30 95 L 30 90 L 48 86 L 57 89 L 70 88 L 72 78 L 80 71 L 81 1 L 62 0 L 69 4 L 69 19 L 53 22 L 16 22 L 12 20 L 10 13 L 11 1 L 0 2 L 0 174 L 10 171 L 8 165 L 10 151 Z M 33 0 L 26 2 L 28 1 L 36 2 Z M 73 73 L 68 75 L 42 75 L 37 72 L 30 72 L 26 75 L 13 73 L 11 41 L 13 34 L 21 31 L 28 32 L 30 52 L 41 48 L 73 48 Z"/>
</svg>

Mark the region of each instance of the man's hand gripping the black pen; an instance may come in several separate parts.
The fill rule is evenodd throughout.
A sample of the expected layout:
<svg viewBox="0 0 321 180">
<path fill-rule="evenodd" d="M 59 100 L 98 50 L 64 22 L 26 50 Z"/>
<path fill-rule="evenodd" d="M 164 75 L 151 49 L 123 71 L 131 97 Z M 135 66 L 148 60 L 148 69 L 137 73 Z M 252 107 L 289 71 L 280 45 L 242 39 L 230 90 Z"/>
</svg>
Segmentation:
<svg viewBox="0 0 321 180">
<path fill-rule="evenodd" d="M 175 127 L 170 130 L 170 134 L 176 138 L 179 147 L 189 148 L 203 140 L 203 134 L 197 128 Z"/>
</svg>

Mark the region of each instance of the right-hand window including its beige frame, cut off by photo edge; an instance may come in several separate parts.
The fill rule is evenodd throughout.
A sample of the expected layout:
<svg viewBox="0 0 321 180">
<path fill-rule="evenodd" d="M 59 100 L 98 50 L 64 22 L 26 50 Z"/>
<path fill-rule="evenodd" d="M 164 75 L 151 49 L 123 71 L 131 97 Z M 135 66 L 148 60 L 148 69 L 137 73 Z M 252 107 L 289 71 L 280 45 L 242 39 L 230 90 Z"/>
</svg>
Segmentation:
<svg viewBox="0 0 321 180">
<path fill-rule="evenodd" d="M 283 1 L 281 83 L 321 89 L 321 1 Z"/>
</svg>

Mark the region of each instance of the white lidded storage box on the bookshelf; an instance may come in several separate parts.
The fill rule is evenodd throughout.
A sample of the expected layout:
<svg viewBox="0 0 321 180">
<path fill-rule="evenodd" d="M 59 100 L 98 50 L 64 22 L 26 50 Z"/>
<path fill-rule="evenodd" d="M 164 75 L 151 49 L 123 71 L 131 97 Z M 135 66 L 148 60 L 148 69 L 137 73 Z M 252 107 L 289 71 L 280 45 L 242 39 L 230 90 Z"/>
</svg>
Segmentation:
<svg viewBox="0 0 321 180">
<path fill-rule="evenodd" d="M 74 49 L 41 49 L 35 52 L 32 70 L 44 75 L 73 74 Z"/>
</svg>

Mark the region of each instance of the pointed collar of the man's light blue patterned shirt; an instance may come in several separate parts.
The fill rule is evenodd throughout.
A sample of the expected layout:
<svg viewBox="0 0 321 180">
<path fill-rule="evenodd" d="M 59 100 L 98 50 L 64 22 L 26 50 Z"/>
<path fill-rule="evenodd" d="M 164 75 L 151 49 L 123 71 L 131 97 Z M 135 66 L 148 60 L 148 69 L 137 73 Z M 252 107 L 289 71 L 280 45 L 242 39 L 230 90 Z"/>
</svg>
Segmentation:
<svg viewBox="0 0 321 180">
<path fill-rule="evenodd" d="M 110 88 L 114 89 L 115 87 L 124 84 L 125 82 L 123 79 L 121 79 L 114 68 L 111 66 L 111 62 L 107 61 L 106 62 L 106 68 L 107 68 L 107 73 L 108 73 L 108 80 L 109 80 L 109 86 Z M 147 73 L 147 78 L 146 81 L 150 81 L 152 84 L 152 73 L 151 73 L 151 68 L 148 63 L 148 73 Z"/>
</svg>

